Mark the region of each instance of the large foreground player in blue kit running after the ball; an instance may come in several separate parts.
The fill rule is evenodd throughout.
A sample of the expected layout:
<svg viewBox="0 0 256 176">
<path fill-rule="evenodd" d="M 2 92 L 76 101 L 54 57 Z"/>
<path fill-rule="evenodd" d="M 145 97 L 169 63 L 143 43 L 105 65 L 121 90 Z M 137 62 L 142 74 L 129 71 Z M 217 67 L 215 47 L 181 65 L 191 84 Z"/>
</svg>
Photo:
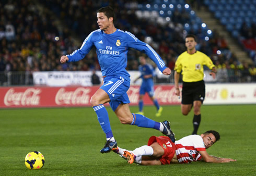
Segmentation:
<svg viewBox="0 0 256 176">
<path fill-rule="evenodd" d="M 110 127 L 108 112 L 104 107 L 105 103 L 110 104 L 122 124 L 153 128 L 161 131 L 174 141 L 174 134 L 171 132 L 170 124 L 167 120 L 156 122 L 143 115 L 131 113 L 129 108 L 130 100 L 126 93 L 130 87 L 130 74 L 125 70 L 128 49 L 134 48 L 147 54 L 165 75 L 171 74 L 171 70 L 165 66 L 152 47 L 139 41 L 130 32 L 124 32 L 114 27 L 115 15 L 111 7 L 100 8 L 97 11 L 97 19 L 100 29 L 92 31 L 86 37 L 83 45 L 72 54 L 62 56 L 61 63 L 81 60 L 89 53 L 92 46 L 96 47 L 104 83 L 92 95 L 90 104 L 94 108 L 107 138 L 107 142 L 100 152 L 107 153 L 112 148 L 117 147 L 117 141 L 115 141 Z"/>
</svg>

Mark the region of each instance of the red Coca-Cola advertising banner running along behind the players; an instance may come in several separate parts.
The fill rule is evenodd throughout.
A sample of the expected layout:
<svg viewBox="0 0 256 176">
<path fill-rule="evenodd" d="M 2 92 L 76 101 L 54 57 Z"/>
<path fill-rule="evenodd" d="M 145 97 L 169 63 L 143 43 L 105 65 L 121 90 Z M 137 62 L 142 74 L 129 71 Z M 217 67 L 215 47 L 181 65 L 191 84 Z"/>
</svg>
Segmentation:
<svg viewBox="0 0 256 176">
<path fill-rule="evenodd" d="M 81 107 L 91 106 L 90 98 L 99 86 L 90 87 L 0 87 L 0 108 Z M 180 104 L 174 86 L 155 86 L 155 97 L 160 105 Z M 138 105 L 139 86 L 127 91 L 130 105 Z M 145 105 L 153 105 L 146 95 Z"/>
</svg>

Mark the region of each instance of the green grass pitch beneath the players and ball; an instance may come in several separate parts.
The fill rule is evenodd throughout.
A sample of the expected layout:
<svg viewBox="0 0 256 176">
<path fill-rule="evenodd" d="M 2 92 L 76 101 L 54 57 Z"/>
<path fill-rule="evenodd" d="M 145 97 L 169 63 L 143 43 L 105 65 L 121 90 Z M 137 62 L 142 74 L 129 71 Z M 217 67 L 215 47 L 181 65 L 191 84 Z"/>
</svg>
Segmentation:
<svg viewBox="0 0 256 176">
<path fill-rule="evenodd" d="M 207 149 L 210 155 L 237 159 L 224 164 L 130 165 L 113 152 L 101 154 L 105 135 L 92 108 L 0 109 L 0 175 L 255 175 L 256 106 L 202 106 L 199 133 L 216 130 L 221 139 Z M 132 112 L 137 107 L 131 107 Z M 107 107 L 118 145 L 126 149 L 146 145 L 154 129 L 123 125 Z M 168 119 L 176 138 L 192 133 L 193 112 L 182 116 L 180 106 L 164 106 L 161 117 L 155 107 L 144 108 L 146 117 Z M 27 153 L 45 157 L 40 170 L 28 170 Z"/>
</svg>

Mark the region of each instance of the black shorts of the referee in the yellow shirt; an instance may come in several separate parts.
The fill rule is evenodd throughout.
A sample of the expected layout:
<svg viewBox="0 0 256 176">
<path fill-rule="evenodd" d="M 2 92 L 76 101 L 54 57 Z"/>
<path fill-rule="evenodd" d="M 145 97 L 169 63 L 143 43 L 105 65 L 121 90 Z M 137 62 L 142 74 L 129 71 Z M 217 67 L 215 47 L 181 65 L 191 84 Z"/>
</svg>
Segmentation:
<svg viewBox="0 0 256 176">
<path fill-rule="evenodd" d="M 193 104 L 195 100 L 200 100 L 203 104 L 205 97 L 204 80 L 197 82 L 183 82 L 181 104 Z"/>
</svg>

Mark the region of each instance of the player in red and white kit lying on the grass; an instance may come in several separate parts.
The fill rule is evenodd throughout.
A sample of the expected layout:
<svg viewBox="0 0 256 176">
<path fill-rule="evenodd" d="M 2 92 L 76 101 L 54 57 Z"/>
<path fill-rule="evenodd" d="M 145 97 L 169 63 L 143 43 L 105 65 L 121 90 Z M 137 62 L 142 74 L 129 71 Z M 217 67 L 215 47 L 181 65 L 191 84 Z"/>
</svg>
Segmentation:
<svg viewBox="0 0 256 176">
<path fill-rule="evenodd" d="M 211 147 L 219 139 L 219 133 L 214 130 L 206 131 L 201 135 L 185 136 L 175 143 L 166 136 L 152 136 L 147 145 L 133 151 L 120 147 L 113 148 L 112 151 L 122 156 L 130 164 L 135 162 L 140 165 L 167 165 L 199 160 L 205 162 L 236 161 L 236 159 L 208 155 L 205 149 Z"/>
</svg>

